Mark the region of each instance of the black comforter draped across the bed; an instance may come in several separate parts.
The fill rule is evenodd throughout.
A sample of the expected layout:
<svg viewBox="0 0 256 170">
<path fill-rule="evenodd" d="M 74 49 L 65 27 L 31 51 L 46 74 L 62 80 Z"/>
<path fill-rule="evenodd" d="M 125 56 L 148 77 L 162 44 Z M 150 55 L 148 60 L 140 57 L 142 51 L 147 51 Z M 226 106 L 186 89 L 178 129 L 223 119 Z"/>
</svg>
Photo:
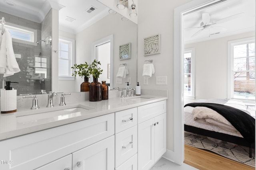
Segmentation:
<svg viewBox="0 0 256 170">
<path fill-rule="evenodd" d="M 184 107 L 186 106 L 208 107 L 217 111 L 241 133 L 246 141 L 249 143 L 255 143 L 255 119 L 244 111 L 234 107 L 214 103 L 190 103 L 186 104 Z"/>
</svg>

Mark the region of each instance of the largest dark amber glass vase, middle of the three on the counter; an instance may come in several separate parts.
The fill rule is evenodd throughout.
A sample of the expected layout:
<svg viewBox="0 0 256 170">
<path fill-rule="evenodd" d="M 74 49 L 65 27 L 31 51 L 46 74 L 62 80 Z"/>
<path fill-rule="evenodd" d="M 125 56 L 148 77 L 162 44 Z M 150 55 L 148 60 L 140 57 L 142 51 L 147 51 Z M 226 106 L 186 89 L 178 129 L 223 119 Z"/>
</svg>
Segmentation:
<svg viewBox="0 0 256 170">
<path fill-rule="evenodd" d="M 102 100 L 102 85 L 98 82 L 98 78 L 93 78 L 93 82 L 90 84 L 89 100 L 91 102 L 97 102 Z"/>
</svg>

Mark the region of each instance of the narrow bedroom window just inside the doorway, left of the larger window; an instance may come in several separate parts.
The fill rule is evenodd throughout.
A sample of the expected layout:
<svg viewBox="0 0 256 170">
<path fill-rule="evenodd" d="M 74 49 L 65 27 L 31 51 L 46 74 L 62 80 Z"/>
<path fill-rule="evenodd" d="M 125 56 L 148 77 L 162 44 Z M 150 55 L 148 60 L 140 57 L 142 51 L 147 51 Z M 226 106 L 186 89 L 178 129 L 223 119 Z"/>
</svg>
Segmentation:
<svg viewBox="0 0 256 170">
<path fill-rule="evenodd" d="M 195 79 L 194 79 L 194 57 L 195 49 L 185 49 L 184 51 L 184 97 L 195 99 Z"/>
</svg>

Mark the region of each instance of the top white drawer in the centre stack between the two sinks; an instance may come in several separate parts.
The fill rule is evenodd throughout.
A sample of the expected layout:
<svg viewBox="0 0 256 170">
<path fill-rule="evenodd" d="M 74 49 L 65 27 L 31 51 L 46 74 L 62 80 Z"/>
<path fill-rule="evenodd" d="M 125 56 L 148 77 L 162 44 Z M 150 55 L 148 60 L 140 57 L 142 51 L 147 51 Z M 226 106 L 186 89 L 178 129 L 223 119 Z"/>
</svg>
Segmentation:
<svg viewBox="0 0 256 170">
<path fill-rule="evenodd" d="M 137 107 L 116 112 L 116 133 L 137 125 Z"/>
</svg>

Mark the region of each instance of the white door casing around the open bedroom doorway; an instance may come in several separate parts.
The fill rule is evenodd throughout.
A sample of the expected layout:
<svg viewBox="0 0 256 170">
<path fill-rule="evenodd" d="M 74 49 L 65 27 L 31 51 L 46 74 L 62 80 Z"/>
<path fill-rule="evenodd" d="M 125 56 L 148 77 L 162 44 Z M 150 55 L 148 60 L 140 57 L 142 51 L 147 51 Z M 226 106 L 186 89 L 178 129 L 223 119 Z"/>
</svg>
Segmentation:
<svg viewBox="0 0 256 170">
<path fill-rule="evenodd" d="M 221 1 L 192 0 L 174 9 L 174 162 L 180 165 L 184 162 L 184 14 Z"/>
</svg>

